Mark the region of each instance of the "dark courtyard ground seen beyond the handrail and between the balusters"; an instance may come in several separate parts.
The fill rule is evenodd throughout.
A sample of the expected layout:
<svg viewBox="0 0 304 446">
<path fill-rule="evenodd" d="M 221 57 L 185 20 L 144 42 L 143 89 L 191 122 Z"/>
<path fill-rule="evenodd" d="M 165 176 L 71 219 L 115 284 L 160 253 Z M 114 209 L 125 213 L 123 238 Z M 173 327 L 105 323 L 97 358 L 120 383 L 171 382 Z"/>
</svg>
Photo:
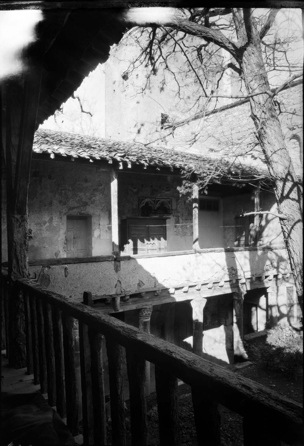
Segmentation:
<svg viewBox="0 0 304 446">
<path fill-rule="evenodd" d="M 245 363 L 243 363 L 245 365 Z M 235 373 L 254 380 L 276 392 L 303 404 L 303 374 L 297 379 L 286 378 L 280 372 L 271 372 L 262 367 L 258 361 L 245 367 L 234 368 Z M 126 401 L 127 412 L 127 445 L 131 444 L 129 401 Z M 243 446 L 242 417 L 219 406 L 221 414 L 221 445 Z M 156 393 L 147 398 L 147 412 L 149 421 L 149 444 L 159 445 L 158 414 Z M 179 385 L 179 425 L 182 446 L 196 446 L 196 429 L 192 409 L 191 388 L 186 384 Z M 111 444 L 111 425 L 108 429 L 108 444 Z"/>
</svg>

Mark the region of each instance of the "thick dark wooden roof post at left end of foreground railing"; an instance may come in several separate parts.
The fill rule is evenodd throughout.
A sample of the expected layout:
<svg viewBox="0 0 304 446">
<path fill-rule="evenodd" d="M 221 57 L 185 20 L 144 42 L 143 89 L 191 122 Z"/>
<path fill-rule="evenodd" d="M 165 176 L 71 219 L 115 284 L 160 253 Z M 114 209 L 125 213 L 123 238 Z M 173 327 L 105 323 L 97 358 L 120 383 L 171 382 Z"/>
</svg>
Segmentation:
<svg viewBox="0 0 304 446">
<path fill-rule="evenodd" d="M 23 54 L 25 56 L 25 54 Z M 27 65 L 30 62 L 27 59 Z M 8 273 L 14 278 L 28 278 L 28 208 L 27 196 L 33 138 L 39 103 L 41 60 L 28 73 L 12 77 L 1 87 L 2 125 L 6 166 L 6 208 L 8 236 Z M 23 299 L 15 291 L 10 296 L 9 363 L 14 368 L 26 366 L 25 318 Z"/>
</svg>

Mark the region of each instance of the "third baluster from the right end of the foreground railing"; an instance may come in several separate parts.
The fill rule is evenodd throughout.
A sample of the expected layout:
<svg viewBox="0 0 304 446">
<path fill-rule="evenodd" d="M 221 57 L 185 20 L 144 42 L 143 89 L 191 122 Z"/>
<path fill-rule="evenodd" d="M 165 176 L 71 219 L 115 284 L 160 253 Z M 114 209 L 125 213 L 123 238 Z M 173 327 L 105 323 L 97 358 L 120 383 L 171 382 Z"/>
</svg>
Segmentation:
<svg viewBox="0 0 304 446">
<path fill-rule="evenodd" d="M 178 385 L 175 376 L 155 366 L 160 446 L 179 446 Z"/>
</svg>

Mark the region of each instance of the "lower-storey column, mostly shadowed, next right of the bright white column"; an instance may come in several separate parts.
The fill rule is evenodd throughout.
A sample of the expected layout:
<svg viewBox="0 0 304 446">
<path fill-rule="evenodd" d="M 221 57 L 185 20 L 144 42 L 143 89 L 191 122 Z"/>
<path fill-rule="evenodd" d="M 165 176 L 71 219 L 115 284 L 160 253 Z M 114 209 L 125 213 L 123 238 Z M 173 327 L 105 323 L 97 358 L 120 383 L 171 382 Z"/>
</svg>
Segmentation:
<svg viewBox="0 0 304 446">
<path fill-rule="evenodd" d="M 232 293 L 233 296 L 233 352 L 234 362 L 238 362 L 242 359 L 248 359 L 246 354 L 243 339 L 243 306 L 244 306 L 244 293 L 239 291 L 238 293 Z"/>
</svg>

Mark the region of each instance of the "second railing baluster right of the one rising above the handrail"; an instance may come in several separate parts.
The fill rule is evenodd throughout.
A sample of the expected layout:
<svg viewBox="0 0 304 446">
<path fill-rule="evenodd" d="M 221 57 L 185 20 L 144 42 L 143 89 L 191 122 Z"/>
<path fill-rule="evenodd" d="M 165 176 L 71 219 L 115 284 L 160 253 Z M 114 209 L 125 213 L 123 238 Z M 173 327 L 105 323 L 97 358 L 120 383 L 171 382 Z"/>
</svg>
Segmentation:
<svg viewBox="0 0 304 446">
<path fill-rule="evenodd" d="M 106 338 L 112 421 L 112 445 L 125 445 L 125 400 L 123 392 L 123 349 Z"/>
</svg>

